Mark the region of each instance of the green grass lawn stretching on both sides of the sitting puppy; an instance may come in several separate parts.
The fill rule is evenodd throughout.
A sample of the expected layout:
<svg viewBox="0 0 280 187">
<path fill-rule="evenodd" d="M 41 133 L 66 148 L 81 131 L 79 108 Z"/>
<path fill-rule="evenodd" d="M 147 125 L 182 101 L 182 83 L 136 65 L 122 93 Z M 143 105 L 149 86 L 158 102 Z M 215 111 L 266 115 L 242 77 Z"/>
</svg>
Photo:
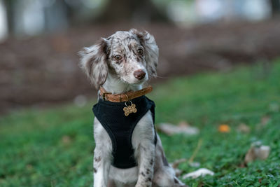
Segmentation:
<svg viewBox="0 0 280 187">
<path fill-rule="evenodd" d="M 160 133 L 169 162 L 189 159 L 214 176 L 187 179 L 190 186 L 279 186 L 280 61 L 270 71 L 260 65 L 230 72 L 172 78 L 148 95 L 156 104 L 156 123 L 186 120 L 200 134 L 169 137 Z M 92 186 L 92 104 L 26 109 L 0 118 L 0 186 Z M 262 123 L 262 118 L 267 123 Z M 242 133 L 245 123 L 251 131 Z M 230 132 L 218 126 L 227 124 Z M 254 141 L 271 148 L 267 160 L 241 167 Z M 188 162 L 183 174 L 199 167 Z"/>
</svg>

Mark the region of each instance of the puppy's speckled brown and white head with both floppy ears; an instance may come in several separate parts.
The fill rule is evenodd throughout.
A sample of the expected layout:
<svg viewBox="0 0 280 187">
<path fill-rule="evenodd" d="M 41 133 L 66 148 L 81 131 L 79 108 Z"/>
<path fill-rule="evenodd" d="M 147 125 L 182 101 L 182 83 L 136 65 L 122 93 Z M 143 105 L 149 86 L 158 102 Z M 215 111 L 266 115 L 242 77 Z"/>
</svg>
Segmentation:
<svg viewBox="0 0 280 187">
<path fill-rule="evenodd" d="M 148 32 L 116 32 L 79 54 L 81 67 L 97 89 L 108 74 L 128 84 L 142 84 L 156 76 L 158 46 Z"/>
</svg>

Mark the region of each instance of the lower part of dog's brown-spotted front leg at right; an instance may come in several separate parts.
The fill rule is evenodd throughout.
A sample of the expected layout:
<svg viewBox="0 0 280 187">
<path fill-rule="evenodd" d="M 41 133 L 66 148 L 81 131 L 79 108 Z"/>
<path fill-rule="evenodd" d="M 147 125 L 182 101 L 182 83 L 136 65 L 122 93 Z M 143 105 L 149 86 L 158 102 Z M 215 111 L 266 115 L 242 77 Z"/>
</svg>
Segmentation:
<svg viewBox="0 0 280 187">
<path fill-rule="evenodd" d="M 148 139 L 141 141 L 138 151 L 139 174 L 136 187 L 151 187 L 155 162 L 155 144 Z"/>
</svg>

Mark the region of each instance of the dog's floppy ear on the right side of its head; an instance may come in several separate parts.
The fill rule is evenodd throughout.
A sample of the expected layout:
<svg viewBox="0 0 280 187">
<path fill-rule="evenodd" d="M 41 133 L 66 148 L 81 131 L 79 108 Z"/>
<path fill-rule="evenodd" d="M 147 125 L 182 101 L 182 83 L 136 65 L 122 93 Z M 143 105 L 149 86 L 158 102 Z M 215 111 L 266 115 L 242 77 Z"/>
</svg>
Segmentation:
<svg viewBox="0 0 280 187">
<path fill-rule="evenodd" d="M 148 73 L 151 76 L 157 76 L 158 46 L 155 43 L 155 38 L 146 31 L 139 32 L 137 29 L 131 29 L 130 32 L 137 35 L 141 45 L 144 47 Z"/>
</svg>

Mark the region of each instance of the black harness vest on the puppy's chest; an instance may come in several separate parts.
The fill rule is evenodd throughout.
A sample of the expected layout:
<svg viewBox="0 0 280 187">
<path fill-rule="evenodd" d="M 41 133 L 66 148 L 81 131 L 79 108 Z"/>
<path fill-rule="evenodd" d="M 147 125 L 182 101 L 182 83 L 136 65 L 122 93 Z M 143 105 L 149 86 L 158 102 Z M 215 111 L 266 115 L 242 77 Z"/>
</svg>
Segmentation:
<svg viewBox="0 0 280 187">
<path fill-rule="evenodd" d="M 99 99 L 92 111 L 102 124 L 112 141 L 114 167 L 130 168 L 137 166 L 132 147 L 132 133 L 139 120 L 150 110 L 155 123 L 155 103 L 145 95 L 132 99 L 137 107 L 137 113 L 125 116 L 125 102 L 109 102 Z M 154 125 L 155 127 L 155 125 Z M 155 134 L 154 143 L 157 143 Z"/>
</svg>

